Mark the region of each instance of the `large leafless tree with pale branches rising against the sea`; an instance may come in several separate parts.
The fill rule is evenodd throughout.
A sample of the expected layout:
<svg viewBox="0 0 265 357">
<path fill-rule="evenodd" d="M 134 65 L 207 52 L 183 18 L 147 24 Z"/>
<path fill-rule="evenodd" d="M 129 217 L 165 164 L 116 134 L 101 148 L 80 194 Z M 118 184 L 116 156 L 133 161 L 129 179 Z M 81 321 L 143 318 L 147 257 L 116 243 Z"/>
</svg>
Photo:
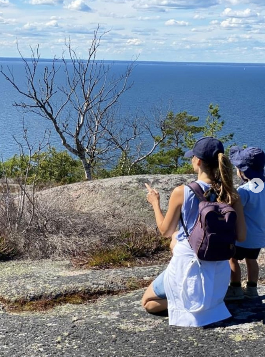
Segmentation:
<svg viewBox="0 0 265 357">
<path fill-rule="evenodd" d="M 132 85 L 129 78 L 135 62 L 131 62 L 123 75 L 114 77 L 111 66 L 96 60 L 100 41 L 107 32 L 99 34 L 99 26 L 94 31 L 87 60 L 77 56 L 70 39 L 65 41 L 62 58 L 54 57 L 41 77 L 39 45 L 35 49 L 31 47 L 30 60 L 17 46 L 24 62 L 26 89 L 15 79 L 10 67 L 0 68 L 5 79 L 22 95 L 23 99 L 15 101 L 14 105 L 23 112 L 31 111 L 52 122 L 64 147 L 82 161 L 87 180 L 92 179 L 93 167 L 98 161 L 113 158 L 120 151 L 127 152 L 130 143 L 139 139 L 144 131 L 151 134 L 154 144 L 147 154 L 141 155 L 138 151 L 133 165 L 151 155 L 166 135 L 163 122 L 159 124 L 162 136 L 157 142 L 150 124 L 118 117 L 117 104 Z M 65 57 L 66 51 L 69 60 Z M 64 85 L 59 84 L 62 71 Z"/>
</svg>

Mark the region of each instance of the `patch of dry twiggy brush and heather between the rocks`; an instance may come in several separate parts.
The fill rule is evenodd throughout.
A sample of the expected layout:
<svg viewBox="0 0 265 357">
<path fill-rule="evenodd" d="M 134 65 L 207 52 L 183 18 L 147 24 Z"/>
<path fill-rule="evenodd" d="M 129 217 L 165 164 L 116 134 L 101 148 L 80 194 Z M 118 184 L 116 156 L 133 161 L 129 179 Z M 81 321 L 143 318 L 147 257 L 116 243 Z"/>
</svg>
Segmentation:
<svg viewBox="0 0 265 357">
<path fill-rule="evenodd" d="M 143 264 L 168 251 L 168 240 L 154 228 L 128 217 L 58 209 L 56 197 L 36 200 L 30 222 L 32 209 L 26 201 L 18 219 L 16 196 L 1 194 L 0 258 L 71 258 L 74 265 L 109 268 Z"/>
</svg>

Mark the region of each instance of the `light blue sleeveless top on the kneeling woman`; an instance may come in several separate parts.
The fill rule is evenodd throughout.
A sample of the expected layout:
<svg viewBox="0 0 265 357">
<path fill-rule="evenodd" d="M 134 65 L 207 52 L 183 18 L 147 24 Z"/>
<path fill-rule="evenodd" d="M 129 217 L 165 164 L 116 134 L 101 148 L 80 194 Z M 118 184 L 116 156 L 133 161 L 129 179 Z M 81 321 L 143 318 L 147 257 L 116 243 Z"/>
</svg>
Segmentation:
<svg viewBox="0 0 265 357">
<path fill-rule="evenodd" d="M 209 183 L 206 183 L 204 181 L 198 180 L 196 181 L 199 183 L 199 185 L 202 187 L 203 191 L 207 191 L 211 185 Z M 184 202 L 181 207 L 181 214 L 183 217 L 183 221 L 186 225 L 186 228 L 188 230 L 188 233 L 190 234 L 193 230 L 193 227 L 195 226 L 197 219 L 198 219 L 198 209 L 199 209 L 199 200 L 198 198 L 194 195 L 193 191 L 188 187 L 184 186 Z M 179 224 L 179 231 L 176 236 L 176 239 L 178 241 L 183 241 L 184 239 L 187 239 L 186 233 L 184 232 L 184 228 L 181 224 L 181 221 L 178 222 Z"/>
</svg>

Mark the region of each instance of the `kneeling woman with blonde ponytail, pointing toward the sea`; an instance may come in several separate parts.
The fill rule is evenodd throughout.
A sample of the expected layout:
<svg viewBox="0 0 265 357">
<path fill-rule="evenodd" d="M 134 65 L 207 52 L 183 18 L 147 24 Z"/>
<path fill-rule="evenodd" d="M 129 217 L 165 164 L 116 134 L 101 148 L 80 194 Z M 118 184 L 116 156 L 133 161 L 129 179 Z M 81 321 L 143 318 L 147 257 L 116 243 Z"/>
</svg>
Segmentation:
<svg viewBox="0 0 265 357">
<path fill-rule="evenodd" d="M 224 155 L 222 142 L 213 137 L 199 139 L 185 154 L 192 157 L 198 174 L 196 182 L 203 191 L 213 188 L 217 201 L 231 205 L 237 213 L 237 240 L 245 240 L 246 228 L 240 198 L 233 187 L 233 167 Z M 180 214 L 190 234 L 198 218 L 199 200 L 188 186 L 176 187 L 170 197 L 165 217 L 160 209 L 159 193 L 148 189 L 157 226 L 163 236 L 175 232 Z M 169 324 L 175 326 L 204 326 L 224 320 L 230 313 L 224 296 L 230 281 L 228 261 L 201 261 L 189 245 L 180 223 L 177 235 L 172 236 L 173 256 L 166 270 L 147 288 L 142 305 L 150 313 L 168 309 Z"/>
</svg>

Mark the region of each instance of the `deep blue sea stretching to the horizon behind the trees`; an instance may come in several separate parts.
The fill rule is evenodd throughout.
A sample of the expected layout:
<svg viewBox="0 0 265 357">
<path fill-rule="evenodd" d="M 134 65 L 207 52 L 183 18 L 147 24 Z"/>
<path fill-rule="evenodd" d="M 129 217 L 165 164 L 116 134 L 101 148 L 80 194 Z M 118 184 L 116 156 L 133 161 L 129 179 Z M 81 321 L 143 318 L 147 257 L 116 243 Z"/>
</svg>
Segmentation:
<svg viewBox="0 0 265 357">
<path fill-rule="evenodd" d="M 17 83 L 26 88 L 20 59 L 0 58 L 0 65 L 4 69 L 9 66 Z M 40 61 L 40 74 L 46 65 L 51 61 Z M 125 72 L 128 62 L 114 62 L 112 66 L 113 74 L 119 75 Z M 63 81 L 63 71 L 60 76 L 58 81 Z M 137 61 L 130 81 L 131 89 L 119 102 L 124 115 L 142 115 L 152 123 L 154 106 L 165 111 L 171 102 L 173 112 L 199 116 L 198 125 L 203 125 L 209 104 L 218 104 L 225 121 L 222 134 L 234 132 L 233 141 L 238 145 L 265 149 L 265 64 Z M 31 144 L 38 143 L 48 128 L 52 131 L 51 145 L 63 150 L 51 122 L 17 111 L 13 104 L 20 97 L 1 74 L 0 88 L 0 155 L 4 160 L 19 152 L 13 137 L 22 141 L 23 117 Z M 148 139 L 145 144 L 148 146 Z"/>
</svg>

